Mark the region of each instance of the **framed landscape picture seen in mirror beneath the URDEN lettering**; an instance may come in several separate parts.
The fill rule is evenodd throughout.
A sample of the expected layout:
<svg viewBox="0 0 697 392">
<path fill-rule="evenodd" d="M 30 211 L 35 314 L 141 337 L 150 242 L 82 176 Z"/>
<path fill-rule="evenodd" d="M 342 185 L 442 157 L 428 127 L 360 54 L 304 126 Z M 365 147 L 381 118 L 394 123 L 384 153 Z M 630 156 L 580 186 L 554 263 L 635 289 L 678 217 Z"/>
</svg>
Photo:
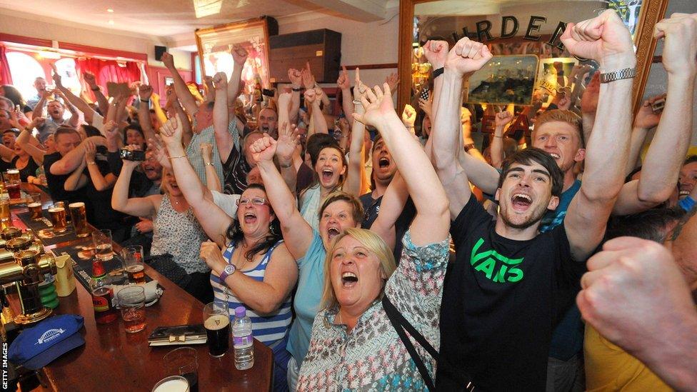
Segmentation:
<svg viewBox="0 0 697 392">
<path fill-rule="evenodd" d="M 493 56 L 469 78 L 465 101 L 470 104 L 530 105 L 537 74 L 538 57 Z"/>
</svg>

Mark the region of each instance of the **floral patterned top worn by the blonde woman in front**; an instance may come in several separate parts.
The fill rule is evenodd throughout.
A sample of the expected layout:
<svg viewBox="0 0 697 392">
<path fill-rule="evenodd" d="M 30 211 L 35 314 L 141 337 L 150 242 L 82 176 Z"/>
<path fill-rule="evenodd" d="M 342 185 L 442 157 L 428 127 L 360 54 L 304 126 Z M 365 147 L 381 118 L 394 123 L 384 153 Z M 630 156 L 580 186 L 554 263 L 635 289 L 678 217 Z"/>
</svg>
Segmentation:
<svg viewBox="0 0 697 392">
<path fill-rule="evenodd" d="M 415 246 L 407 231 L 399 266 L 385 286 L 398 311 L 436 348 L 441 346 L 438 320 L 449 241 Z M 324 309 L 315 317 L 298 391 L 426 390 L 381 301 L 373 302 L 350 333 L 334 323 L 338 311 Z M 412 343 L 435 377 L 436 361 L 413 339 Z"/>
</svg>

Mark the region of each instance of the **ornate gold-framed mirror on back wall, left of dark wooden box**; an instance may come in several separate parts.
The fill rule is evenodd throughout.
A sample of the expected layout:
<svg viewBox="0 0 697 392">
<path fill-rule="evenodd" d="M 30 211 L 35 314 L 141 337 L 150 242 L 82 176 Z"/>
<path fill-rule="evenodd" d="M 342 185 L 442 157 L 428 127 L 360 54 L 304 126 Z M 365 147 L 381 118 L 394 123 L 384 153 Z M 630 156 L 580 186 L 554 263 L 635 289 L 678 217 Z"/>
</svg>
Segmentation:
<svg viewBox="0 0 697 392">
<path fill-rule="evenodd" d="M 240 45 L 249 56 L 242 68 L 245 94 L 269 89 L 269 28 L 266 18 L 196 30 L 196 45 L 204 76 L 224 72 L 228 78 L 236 66 L 230 51 Z"/>
</svg>

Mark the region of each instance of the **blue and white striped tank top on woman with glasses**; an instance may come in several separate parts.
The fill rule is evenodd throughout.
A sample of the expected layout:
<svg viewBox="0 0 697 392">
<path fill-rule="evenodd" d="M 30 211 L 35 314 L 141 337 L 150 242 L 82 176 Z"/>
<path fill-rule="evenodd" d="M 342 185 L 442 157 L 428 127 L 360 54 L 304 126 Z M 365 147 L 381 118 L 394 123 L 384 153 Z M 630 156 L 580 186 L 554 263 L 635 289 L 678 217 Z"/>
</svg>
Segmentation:
<svg viewBox="0 0 697 392">
<path fill-rule="evenodd" d="M 264 281 L 264 273 L 266 273 L 266 266 L 269 265 L 269 260 L 271 260 L 271 253 L 274 252 L 276 246 L 279 246 L 283 240 L 277 242 L 269 248 L 266 252 L 264 258 L 261 262 L 251 271 L 236 271 L 235 273 L 244 273 L 246 276 L 253 278 L 255 281 Z M 228 263 L 232 258 L 232 253 L 235 251 L 234 244 L 230 244 L 224 251 L 223 257 Z M 251 318 L 252 333 L 256 340 L 261 341 L 261 343 L 270 346 L 272 343 L 278 341 L 286 336 L 291 325 L 291 296 L 288 296 L 281 306 L 274 311 L 274 313 L 268 314 L 266 316 L 259 316 L 254 310 L 249 306 L 242 303 L 239 298 L 234 296 L 234 294 L 227 288 L 224 282 L 220 281 L 219 276 L 211 273 L 211 286 L 213 286 L 213 293 L 216 299 L 222 301 L 227 301 L 230 313 L 230 322 L 234 322 L 235 319 L 235 308 L 238 306 L 244 306 L 247 309 L 247 316 Z"/>
</svg>

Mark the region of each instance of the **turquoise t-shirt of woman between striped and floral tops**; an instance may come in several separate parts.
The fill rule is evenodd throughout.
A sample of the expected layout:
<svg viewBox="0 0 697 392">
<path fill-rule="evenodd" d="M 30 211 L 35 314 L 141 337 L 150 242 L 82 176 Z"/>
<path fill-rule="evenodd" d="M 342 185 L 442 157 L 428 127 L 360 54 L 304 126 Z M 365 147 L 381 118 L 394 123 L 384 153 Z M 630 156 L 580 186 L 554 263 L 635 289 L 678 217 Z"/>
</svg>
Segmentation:
<svg viewBox="0 0 697 392">
<path fill-rule="evenodd" d="M 298 289 L 293 301 L 296 318 L 291 325 L 287 350 L 300 366 L 307 355 L 312 336 L 312 323 L 319 312 L 324 288 L 324 258 L 326 250 L 319 232 L 313 238 L 305 256 L 298 259 Z"/>
</svg>

